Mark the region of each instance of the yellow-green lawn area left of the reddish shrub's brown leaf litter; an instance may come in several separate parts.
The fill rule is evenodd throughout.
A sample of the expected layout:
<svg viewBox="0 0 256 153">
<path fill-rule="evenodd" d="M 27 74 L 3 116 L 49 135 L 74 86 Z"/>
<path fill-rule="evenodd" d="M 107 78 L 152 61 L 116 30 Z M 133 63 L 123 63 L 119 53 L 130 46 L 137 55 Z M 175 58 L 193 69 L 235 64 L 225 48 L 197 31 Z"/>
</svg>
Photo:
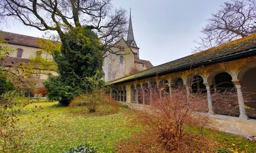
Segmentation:
<svg viewBox="0 0 256 153">
<path fill-rule="evenodd" d="M 39 106 L 44 109 L 38 109 Z M 26 107 L 27 112 L 31 109 L 35 110 L 34 115 L 44 116 L 44 119 L 20 115 L 20 123 L 27 126 L 24 137 L 26 152 L 63 152 L 85 143 L 92 145 L 97 152 L 115 152 L 121 138 L 141 129 L 124 115 L 129 111 L 124 108 L 120 108 L 119 113 L 105 116 L 79 115 L 79 107 L 57 107 L 57 102 L 34 103 Z"/>
</svg>

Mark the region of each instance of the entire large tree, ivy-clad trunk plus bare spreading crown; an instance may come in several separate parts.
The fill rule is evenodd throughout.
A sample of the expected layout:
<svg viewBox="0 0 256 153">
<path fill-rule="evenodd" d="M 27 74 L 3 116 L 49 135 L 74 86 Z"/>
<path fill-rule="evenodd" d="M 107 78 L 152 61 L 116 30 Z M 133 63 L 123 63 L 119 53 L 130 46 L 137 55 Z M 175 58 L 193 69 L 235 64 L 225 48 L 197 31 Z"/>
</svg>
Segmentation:
<svg viewBox="0 0 256 153">
<path fill-rule="evenodd" d="M 45 86 L 50 99 L 69 104 L 75 95 L 92 90 L 91 80 L 102 85 L 105 52 L 121 54 L 111 47 L 126 33 L 127 19 L 125 10 L 113 8 L 112 0 L 0 0 L 0 22 L 14 19 L 58 33 L 62 46 L 54 59 L 59 76 Z"/>
</svg>

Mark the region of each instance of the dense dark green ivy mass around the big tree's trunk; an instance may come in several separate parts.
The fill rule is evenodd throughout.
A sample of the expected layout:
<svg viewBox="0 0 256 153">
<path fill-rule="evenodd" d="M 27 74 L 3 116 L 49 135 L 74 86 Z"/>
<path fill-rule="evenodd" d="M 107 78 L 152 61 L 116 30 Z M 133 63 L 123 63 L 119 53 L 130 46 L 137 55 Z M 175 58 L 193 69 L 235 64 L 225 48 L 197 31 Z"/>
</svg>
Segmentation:
<svg viewBox="0 0 256 153">
<path fill-rule="evenodd" d="M 66 34 L 61 52 L 55 53 L 58 77 L 45 82 L 48 98 L 68 105 L 80 93 L 93 90 L 90 78 L 94 77 L 98 86 L 103 86 L 102 45 L 97 35 L 88 26 L 77 27 Z"/>
</svg>

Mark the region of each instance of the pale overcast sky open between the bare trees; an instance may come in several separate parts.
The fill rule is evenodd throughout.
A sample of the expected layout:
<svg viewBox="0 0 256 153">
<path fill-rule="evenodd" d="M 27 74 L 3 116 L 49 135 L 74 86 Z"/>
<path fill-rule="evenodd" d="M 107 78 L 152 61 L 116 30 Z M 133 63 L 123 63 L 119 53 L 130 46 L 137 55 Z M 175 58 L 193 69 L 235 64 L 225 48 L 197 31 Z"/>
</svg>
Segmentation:
<svg viewBox="0 0 256 153">
<path fill-rule="evenodd" d="M 140 47 L 140 59 L 156 66 L 192 54 L 192 48 L 207 24 L 225 0 L 113 0 L 116 8 L 132 9 L 133 32 Z M 42 32 L 11 22 L 0 25 L 7 32 L 41 37 Z M 126 39 L 126 38 L 125 38 Z"/>
</svg>

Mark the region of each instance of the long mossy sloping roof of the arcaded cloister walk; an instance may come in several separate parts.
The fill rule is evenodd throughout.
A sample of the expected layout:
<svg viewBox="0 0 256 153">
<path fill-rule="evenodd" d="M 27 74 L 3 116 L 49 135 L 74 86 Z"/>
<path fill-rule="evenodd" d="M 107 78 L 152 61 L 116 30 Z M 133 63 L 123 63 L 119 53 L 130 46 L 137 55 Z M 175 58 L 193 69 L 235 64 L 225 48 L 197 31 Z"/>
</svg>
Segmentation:
<svg viewBox="0 0 256 153">
<path fill-rule="evenodd" d="M 244 38 L 240 38 L 228 43 L 219 45 L 217 47 L 204 50 L 202 52 L 192 54 L 187 57 L 180 58 L 165 64 L 155 66 L 150 69 L 140 71 L 138 73 L 127 75 L 126 77 L 108 82 L 107 84 L 119 84 L 147 77 L 154 77 L 157 74 L 164 74 L 164 72 L 175 72 L 178 70 L 189 69 L 190 66 L 197 65 L 203 62 L 208 64 L 214 64 L 213 60 L 221 59 L 224 57 L 230 57 L 243 53 L 245 50 L 256 47 L 256 34 L 249 35 Z M 219 61 L 220 62 L 220 61 Z"/>
</svg>

